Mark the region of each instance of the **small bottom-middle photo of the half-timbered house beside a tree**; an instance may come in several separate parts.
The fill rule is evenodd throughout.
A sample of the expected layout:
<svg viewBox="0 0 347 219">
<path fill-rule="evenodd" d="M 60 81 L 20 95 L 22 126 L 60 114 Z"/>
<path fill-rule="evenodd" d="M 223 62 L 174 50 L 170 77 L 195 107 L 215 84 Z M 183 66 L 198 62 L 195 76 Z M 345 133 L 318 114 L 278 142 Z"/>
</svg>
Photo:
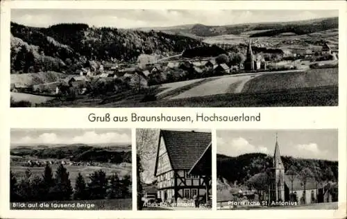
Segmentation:
<svg viewBox="0 0 347 219">
<path fill-rule="evenodd" d="M 137 209 L 212 209 L 210 130 L 137 129 Z"/>
</svg>

